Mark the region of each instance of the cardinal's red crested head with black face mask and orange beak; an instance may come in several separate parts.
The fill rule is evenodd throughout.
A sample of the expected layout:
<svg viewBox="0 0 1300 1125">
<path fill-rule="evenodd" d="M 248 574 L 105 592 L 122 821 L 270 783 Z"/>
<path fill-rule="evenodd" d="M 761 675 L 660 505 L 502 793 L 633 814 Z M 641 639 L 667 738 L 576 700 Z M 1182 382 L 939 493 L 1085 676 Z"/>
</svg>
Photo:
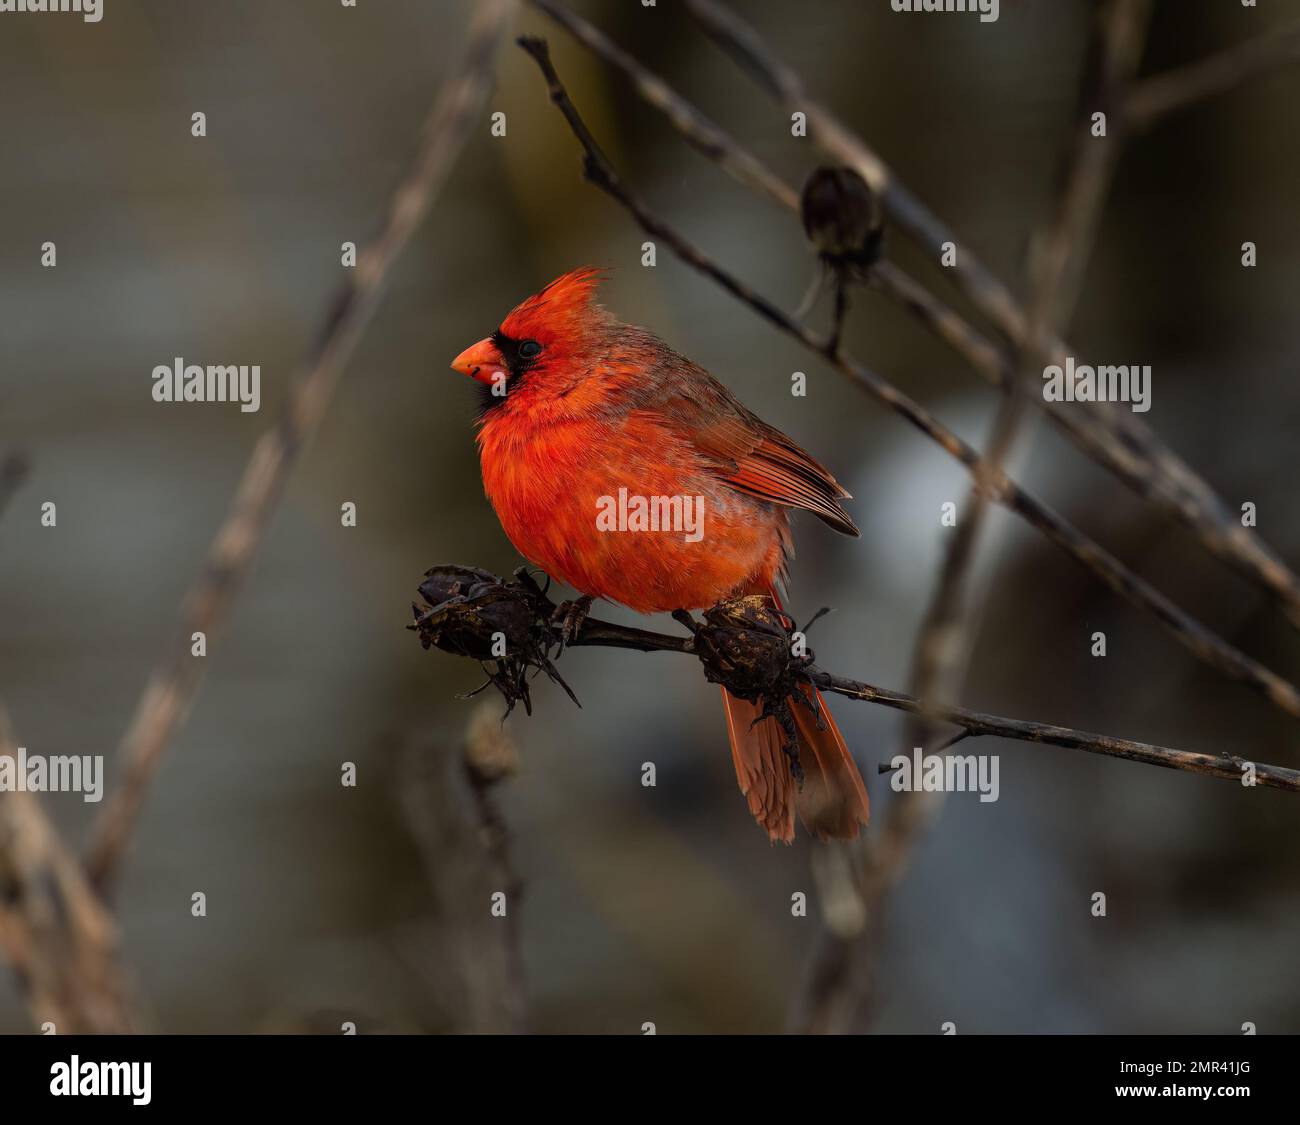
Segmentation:
<svg viewBox="0 0 1300 1125">
<path fill-rule="evenodd" d="M 614 323 L 595 300 L 603 272 L 592 265 L 555 278 L 511 310 L 491 334 L 467 347 L 451 369 L 484 385 L 486 407 L 529 389 L 529 398 L 566 394 L 597 362 Z"/>
</svg>

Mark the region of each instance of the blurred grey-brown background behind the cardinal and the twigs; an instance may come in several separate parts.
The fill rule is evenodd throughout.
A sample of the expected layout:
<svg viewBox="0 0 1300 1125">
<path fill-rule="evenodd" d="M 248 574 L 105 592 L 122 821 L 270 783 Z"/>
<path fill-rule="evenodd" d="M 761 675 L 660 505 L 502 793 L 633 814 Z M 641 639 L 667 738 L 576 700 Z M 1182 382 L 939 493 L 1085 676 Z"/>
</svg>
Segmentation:
<svg viewBox="0 0 1300 1125">
<path fill-rule="evenodd" d="M 182 596 L 341 281 L 339 246 L 377 230 L 472 7 L 107 0 L 96 25 L 0 17 L 0 453 L 31 462 L 0 524 L 0 700 L 31 753 L 107 754 L 112 784 L 112 753 Z M 789 182 L 818 161 L 670 0 L 573 7 Z M 1004 0 L 992 25 L 896 14 L 887 0 L 741 8 L 1018 284 L 1072 116 L 1083 0 Z M 1297 12 L 1165 0 L 1144 73 Z M 798 304 L 815 263 L 792 216 L 690 151 L 537 13 L 516 29 L 550 38 L 602 146 L 656 209 L 760 293 Z M 1230 506 L 1254 502 L 1261 535 L 1292 566 L 1297 95 L 1300 74 L 1282 72 L 1127 148 L 1070 332 L 1089 358 L 1152 364 L 1145 419 Z M 196 111 L 207 139 L 190 135 Z M 504 138 L 489 133 L 494 111 Z M 55 269 L 40 267 L 46 241 Z M 426 567 L 520 563 L 482 496 L 476 389 L 447 363 L 575 265 L 612 267 L 608 307 L 708 367 L 854 493 L 861 540 L 797 520 L 793 609 L 806 620 L 833 606 L 812 635 L 823 666 L 906 687 L 945 544 L 939 507 L 963 499 L 965 473 L 667 248 L 642 268 L 642 241 L 581 181 L 534 65 L 507 46 L 482 127 L 294 473 L 151 793 L 118 903 L 151 1026 L 502 1026 L 493 1003 L 467 999 L 462 964 L 500 940 L 485 920 L 500 887 L 438 870 L 455 854 L 442 844 L 459 808 L 455 771 L 438 763 L 455 757 L 478 705 L 460 695 L 481 676 L 422 652 L 404 626 Z M 1240 265 L 1244 241 L 1258 245 L 1256 269 Z M 949 295 L 901 235 L 890 254 Z M 983 443 L 996 395 L 897 306 L 859 297 L 848 343 Z M 261 412 L 156 404 L 152 368 L 178 355 L 260 364 Z M 789 394 L 794 371 L 809 376 L 806 398 Z M 1022 483 L 1234 644 L 1300 676 L 1295 633 L 1261 593 L 1056 432 L 1035 421 L 1024 433 Z M 57 528 L 40 527 L 46 501 Z M 355 528 L 341 527 L 346 501 Z M 988 531 L 965 704 L 1300 763 L 1295 730 L 1249 689 L 1013 518 L 994 514 Z M 1104 659 L 1089 655 L 1098 629 Z M 540 683 L 533 717 L 516 710 L 506 727 L 520 770 L 495 791 L 523 884 L 511 921 L 528 1026 L 780 1031 L 816 944 L 812 845 L 772 847 L 750 819 L 716 689 L 693 662 L 590 649 L 562 670 L 582 709 Z M 833 709 L 880 817 L 893 795 L 876 765 L 904 749 L 901 719 Z M 1052 748 L 975 749 L 1001 756 L 1001 799 L 946 802 L 889 903 L 863 1027 L 1300 1031 L 1295 796 Z M 358 763 L 356 788 L 339 784 L 344 761 Z M 640 783 L 644 762 L 655 788 Z M 44 804 L 83 839 L 96 806 Z M 191 917 L 195 891 L 207 918 Z M 806 918 L 792 917 L 798 891 L 812 900 Z M 1104 920 L 1089 913 L 1096 891 Z M 29 1029 L 5 974 L 0 1030 Z"/>
</svg>

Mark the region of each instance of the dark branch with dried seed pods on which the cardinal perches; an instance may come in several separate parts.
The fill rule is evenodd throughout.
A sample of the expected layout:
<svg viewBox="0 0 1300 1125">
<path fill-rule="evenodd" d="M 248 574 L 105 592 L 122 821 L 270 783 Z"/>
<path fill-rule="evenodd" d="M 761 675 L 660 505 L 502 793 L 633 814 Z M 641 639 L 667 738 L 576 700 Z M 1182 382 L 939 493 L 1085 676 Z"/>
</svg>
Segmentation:
<svg viewBox="0 0 1300 1125">
<path fill-rule="evenodd" d="M 506 650 L 500 657 L 489 658 L 498 662 L 499 667 L 488 667 L 489 659 L 480 661 L 490 680 L 502 689 L 507 704 L 515 698 L 511 685 L 529 674 L 542 671 L 543 661 L 551 658 L 550 649 L 558 644 L 558 636 L 550 627 L 556 606 L 526 572 L 521 571 L 515 580 L 506 581 L 476 567 L 439 566 L 426 574 L 420 593 L 428 607 L 416 607 L 416 620 L 410 628 L 425 648 L 439 648 L 455 655 L 491 650 L 493 633 L 503 619 L 500 607 L 506 603 L 512 607 L 511 618 L 530 622 L 532 628 L 520 632 L 516 642 L 507 637 Z M 432 597 L 441 601 L 430 602 Z M 682 614 L 682 619 L 689 622 L 690 636 L 675 637 L 588 616 L 569 645 L 634 649 L 644 653 L 689 653 L 699 658 L 711 683 L 723 684 L 733 695 L 763 698 L 774 711 L 784 702 L 792 683 L 800 680 L 806 680 L 823 692 L 909 714 L 926 710 L 914 696 L 819 668 L 811 653 L 806 657 L 794 655 L 793 622 L 772 609 L 764 598 L 733 598 L 707 610 L 702 622 L 688 614 Z M 779 644 L 774 644 L 774 639 L 779 639 Z M 1208 774 L 1238 784 L 1242 784 L 1243 776 L 1253 776 L 1258 786 L 1300 793 L 1300 770 L 1252 763 L 1230 754 L 1179 750 L 956 706 L 936 708 L 933 717 L 959 727 L 971 737 L 989 735 L 1086 750 L 1131 762 Z"/>
</svg>

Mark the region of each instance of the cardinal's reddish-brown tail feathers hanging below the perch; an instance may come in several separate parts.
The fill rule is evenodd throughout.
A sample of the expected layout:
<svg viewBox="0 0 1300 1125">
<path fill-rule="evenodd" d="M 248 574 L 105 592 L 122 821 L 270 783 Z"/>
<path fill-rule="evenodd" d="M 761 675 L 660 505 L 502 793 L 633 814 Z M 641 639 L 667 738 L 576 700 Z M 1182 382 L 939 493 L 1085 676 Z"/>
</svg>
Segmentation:
<svg viewBox="0 0 1300 1125">
<path fill-rule="evenodd" d="M 755 593 L 768 594 L 781 607 L 776 590 L 767 587 Z M 853 839 L 868 818 L 867 789 L 845 745 L 844 735 L 811 684 L 801 685 L 805 698 L 815 706 L 790 700 L 798 735 L 803 784 L 794 779 L 790 760 L 783 749 L 781 728 L 775 718 L 758 721 L 758 705 L 737 698 L 723 688 L 727 736 L 740 791 L 772 840 L 794 839 L 794 813 L 818 839 Z M 820 717 L 820 723 L 818 718 Z M 758 722 L 755 722 L 758 721 Z"/>
</svg>

